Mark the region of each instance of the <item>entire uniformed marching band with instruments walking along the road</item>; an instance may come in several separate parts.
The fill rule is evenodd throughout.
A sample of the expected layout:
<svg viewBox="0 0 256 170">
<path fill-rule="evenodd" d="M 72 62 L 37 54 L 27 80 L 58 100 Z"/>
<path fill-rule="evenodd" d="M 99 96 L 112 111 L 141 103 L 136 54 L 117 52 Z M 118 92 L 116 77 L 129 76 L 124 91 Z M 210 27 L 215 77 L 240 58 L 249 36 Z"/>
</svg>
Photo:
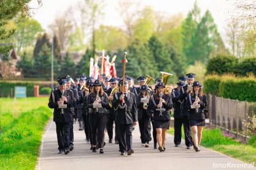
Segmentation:
<svg viewBox="0 0 256 170">
<path fill-rule="evenodd" d="M 155 79 L 155 89 L 149 86 L 153 78 L 142 75 L 136 87 L 133 78 L 125 75 L 125 62 L 126 58 L 120 80 L 104 75 L 94 81 L 82 75 L 79 84 L 69 75 L 57 79 L 59 86 L 52 89 L 48 106 L 54 109 L 58 153 L 68 154 L 74 149 L 75 117 L 79 130 L 85 130 L 85 140 L 90 142 L 92 152 L 99 149 L 99 153 L 104 153 L 106 130 L 109 143 L 114 140 L 119 145 L 120 155 L 133 154 L 132 133 L 137 124 L 141 145 L 149 147 L 153 136 L 153 149 L 157 149 L 158 144 L 158 150 L 164 152 L 172 111 L 175 147 L 180 145 L 183 124 L 187 149 L 193 146 L 199 152 L 207 100 L 201 84 L 194 81 L 195 74 L 179 77 L 177 87 L 173 89 L 167 86 L 169 73 L 161 72 L 162 78 Z"/>
</svg>

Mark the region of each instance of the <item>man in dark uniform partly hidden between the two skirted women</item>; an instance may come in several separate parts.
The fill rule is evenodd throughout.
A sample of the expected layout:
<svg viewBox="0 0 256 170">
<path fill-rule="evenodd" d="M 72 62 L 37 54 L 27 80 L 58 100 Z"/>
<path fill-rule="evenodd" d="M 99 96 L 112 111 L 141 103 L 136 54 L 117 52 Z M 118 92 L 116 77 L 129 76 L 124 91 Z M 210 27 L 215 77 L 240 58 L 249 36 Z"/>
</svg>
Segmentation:
<svg viewBox="0 0 256 170">
<path fill-rule="evenodd" d="M 181 127 L 182 127 L 182 116 L 180 115 L 181 112 L 181 103 L 179 100 L 179 90 L 180 87 L 183 86 L 182 82 L 176 83 L 177 88 L 173 89 L 171 93 L 171 99 L 173 100 L 173 108 L 174 108 L 174 144 L 176 147 L 179 146 L 181 142 Z"/>
</svg>

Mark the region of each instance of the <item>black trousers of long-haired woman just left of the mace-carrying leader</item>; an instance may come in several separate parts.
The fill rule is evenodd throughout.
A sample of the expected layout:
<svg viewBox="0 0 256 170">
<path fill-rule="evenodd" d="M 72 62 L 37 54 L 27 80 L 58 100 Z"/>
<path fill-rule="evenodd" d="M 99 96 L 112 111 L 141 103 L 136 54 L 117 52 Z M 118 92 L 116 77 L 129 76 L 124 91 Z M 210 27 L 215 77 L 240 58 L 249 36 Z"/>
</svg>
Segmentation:
<svg viewBox="0 0 256 170">
<path fill-rule="evenodd" d="M 98 134 L 98 147 L 103 148 L 104 131 L 107 124 L 106 114 L 90 114 L 91 139 L 93 145 L 96 145 L 96 133 Z"/>
</svg>

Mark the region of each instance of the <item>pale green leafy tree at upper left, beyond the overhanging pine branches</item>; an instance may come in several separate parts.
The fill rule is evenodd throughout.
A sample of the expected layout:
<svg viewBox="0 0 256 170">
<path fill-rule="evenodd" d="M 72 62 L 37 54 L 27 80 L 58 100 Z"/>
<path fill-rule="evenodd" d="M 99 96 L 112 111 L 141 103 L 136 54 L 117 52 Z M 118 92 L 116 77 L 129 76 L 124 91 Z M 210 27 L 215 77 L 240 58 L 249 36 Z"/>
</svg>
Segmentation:
<svg viewBox="0 0 256 170">
<path fill-rule="evenodd" d="M 25 22 L 18 23 L 15 30 L 13 41 L 17 45 L 17 53 L 21 48 L 34 45 L 37 36 L 43 31 L 41 24 L 36 20 L 27 19 Z"/>
</svg>

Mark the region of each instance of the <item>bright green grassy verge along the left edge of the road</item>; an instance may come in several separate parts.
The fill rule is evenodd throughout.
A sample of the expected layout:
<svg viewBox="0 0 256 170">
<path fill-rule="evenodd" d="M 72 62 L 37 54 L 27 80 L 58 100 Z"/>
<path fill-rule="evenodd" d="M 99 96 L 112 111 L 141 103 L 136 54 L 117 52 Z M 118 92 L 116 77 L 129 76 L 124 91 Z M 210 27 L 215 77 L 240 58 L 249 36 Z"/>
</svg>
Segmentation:
<svg viewBox="0 0 256 170">
<path fill-rule="evenodd" d="M 0 169 L 34 169 L 45 124 L 52 116 L 47 106 L 22 113 L 0 134 Z"/>
</svg>

